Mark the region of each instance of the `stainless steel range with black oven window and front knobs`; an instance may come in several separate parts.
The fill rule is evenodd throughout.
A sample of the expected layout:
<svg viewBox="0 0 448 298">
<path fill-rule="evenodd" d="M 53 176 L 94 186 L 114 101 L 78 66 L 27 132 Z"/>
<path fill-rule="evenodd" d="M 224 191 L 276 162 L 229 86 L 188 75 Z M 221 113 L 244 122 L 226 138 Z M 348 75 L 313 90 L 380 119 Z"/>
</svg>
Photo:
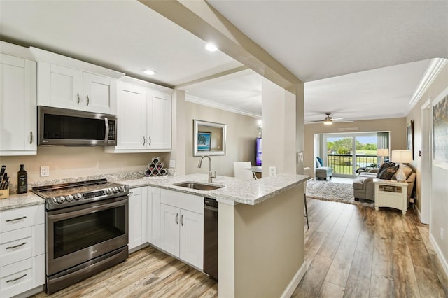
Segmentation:
<svg viewBox="0 0 448 298">
<path fill-rule="evenodd" d="M 128 185 L 100 179 L 33 192 L 45 199 L 48 294 L 126 260 Z"/>
</svg>

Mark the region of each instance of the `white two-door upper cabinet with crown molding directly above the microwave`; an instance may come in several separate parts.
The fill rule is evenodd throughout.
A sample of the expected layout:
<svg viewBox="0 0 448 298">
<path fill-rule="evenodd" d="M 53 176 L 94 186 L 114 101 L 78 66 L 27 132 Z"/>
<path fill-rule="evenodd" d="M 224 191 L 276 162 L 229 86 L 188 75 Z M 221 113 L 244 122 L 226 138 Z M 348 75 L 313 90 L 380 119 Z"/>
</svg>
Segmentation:
<svg viewBox="0 0 448 298">
<path fill-rule="evenodd" d="M 117 113 L 117 78 L 124 73 L 31 47 L 38 61 L 38 106 Z"/>
</svg>

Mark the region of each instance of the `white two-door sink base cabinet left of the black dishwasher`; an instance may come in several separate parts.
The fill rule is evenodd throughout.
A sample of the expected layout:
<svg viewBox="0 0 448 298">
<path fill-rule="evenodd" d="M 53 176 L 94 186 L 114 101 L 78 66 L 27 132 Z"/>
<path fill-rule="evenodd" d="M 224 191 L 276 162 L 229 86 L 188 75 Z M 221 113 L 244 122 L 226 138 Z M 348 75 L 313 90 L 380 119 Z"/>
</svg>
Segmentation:
<svg viewBox="0 0 448 298">
<path fill-rule="evenodd" d="M 160 248 L 202 269 L 204 198 L 161 190 Z"/>
</svg>

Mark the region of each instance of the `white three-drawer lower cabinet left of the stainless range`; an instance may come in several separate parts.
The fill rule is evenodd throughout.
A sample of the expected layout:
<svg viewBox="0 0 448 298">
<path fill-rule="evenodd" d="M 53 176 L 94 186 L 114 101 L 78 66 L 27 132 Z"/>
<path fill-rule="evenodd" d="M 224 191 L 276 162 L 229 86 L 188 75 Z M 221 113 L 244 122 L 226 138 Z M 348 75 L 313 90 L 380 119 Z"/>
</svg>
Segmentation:
<svg viewBox="0 0 448 298">
<path fill-rule="evenodd" d="M 45 283 L 43 204 L 0 212 L 0 297 Z"/>
</svg>

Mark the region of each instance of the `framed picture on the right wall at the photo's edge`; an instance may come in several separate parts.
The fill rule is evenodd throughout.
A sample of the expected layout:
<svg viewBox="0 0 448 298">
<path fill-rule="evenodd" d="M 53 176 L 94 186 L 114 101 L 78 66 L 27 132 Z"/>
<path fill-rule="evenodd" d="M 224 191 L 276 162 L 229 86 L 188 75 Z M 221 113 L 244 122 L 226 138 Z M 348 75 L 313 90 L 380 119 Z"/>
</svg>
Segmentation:
<svg viewBox="0 0 448 298">
<path fill-rule="evenodd" d="M 448 169 L 448 88 L 433 101 L 433 164 Z"/>
</svg>

